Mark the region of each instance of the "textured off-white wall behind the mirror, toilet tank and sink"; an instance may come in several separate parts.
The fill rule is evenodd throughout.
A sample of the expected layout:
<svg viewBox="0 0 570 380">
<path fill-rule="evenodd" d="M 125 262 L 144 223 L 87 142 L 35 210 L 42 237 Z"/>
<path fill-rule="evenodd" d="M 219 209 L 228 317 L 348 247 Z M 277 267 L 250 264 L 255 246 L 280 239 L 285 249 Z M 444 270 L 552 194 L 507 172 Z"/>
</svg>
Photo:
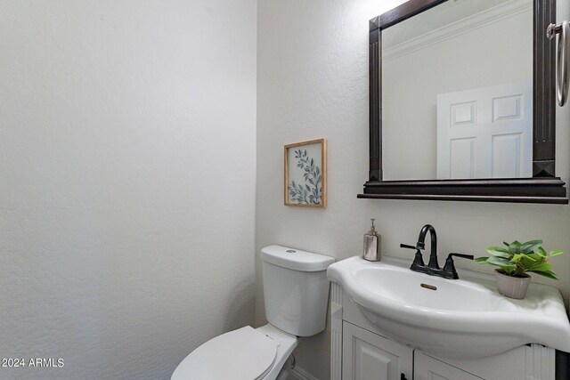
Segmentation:
<svg viewBox="0 0 570 380">
<path fill-rule="evenodd" d="M 356 199 L 368 174 L 368 20 L 403 1 L 263 0 L 258 2 L 256 252 L 281 244 L 332 255 L 362 252 L 362 234 L 376 217 L 384 255 L 407 257 L 400 243 L 434 224 L 439 251 L 484 255 L 503 240 L 544 239 L 570 252 L 570 207 L 552 205 Z M 567 2 L 560 17 L 568 17 Z M 558 109 L 558 175 L 568 182 L 569 107 Z M 329 206 L 283 206 L 283 145 L 324 137 L 329 150 Z M 568 297 L 570 255 L 552 260 Z M 458 266 L 478 271 L 458 260 Z M 265 322 L 257 261 L 256 323 Z M 330 331 L 305 339 L 297 364 L 330 376 Z"/>
</svg>

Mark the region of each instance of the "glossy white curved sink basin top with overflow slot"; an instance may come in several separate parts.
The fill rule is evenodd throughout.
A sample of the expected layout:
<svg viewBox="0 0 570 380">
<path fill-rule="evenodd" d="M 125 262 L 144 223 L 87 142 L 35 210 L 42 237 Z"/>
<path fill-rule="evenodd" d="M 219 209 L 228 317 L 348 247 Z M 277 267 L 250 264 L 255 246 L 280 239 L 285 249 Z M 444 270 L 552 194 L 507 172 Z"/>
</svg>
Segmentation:
<svg viewBox="0 0 570 380">
<path fill-rule="evenodd" d="M 557 288 L 531 284 L 524 300 L 514 300 L 499 294 L 491 276 L 460 271 L 460 279 L 441 279 L 409 265 L 351 257 L 330 265 L 327 276 L 384 335 L 426 353 L 481 358 L 524 344 L 570 352 Z"/>
</svg>

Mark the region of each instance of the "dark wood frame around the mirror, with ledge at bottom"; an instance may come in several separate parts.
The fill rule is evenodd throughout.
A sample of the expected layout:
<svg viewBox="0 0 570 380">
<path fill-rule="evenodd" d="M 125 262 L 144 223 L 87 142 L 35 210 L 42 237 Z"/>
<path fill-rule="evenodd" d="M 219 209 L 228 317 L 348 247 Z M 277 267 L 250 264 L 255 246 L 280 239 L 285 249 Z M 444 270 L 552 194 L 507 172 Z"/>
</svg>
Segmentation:
<svg viewBox="0 0 570 380">
<path fill-rule="evenodd" d="M 370 22 L 370 172 L 358 198 L 464 200 L 567 204 L 565 182 L 555 176 L 556 0 L 533 0 L 533 177 L 484 180 L 382 180 L 382 30 L 447 0 L 410 0 Z"/>
</svg>

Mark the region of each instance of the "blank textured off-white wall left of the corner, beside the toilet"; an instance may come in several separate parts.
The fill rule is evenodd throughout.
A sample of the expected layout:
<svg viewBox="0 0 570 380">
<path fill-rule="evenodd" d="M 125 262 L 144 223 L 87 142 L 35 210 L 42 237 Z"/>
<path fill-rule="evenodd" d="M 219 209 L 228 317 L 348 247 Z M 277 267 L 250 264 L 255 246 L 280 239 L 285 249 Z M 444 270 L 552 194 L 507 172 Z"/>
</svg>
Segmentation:
<svg viewBox="0 0 570 380">
<path fill-rule="evenodd" d="M 0 377 L 169 378 L 254 320 L 256 1 L 0 3 Z"/>
</svg>

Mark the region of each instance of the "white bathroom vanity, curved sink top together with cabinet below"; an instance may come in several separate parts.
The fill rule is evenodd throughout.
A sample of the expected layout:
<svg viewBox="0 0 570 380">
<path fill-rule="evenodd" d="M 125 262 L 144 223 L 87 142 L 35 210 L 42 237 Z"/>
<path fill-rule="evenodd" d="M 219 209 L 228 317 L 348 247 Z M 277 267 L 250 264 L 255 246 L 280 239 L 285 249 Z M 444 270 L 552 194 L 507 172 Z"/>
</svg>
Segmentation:
<svg viewBox="0 0 570 380">
<path fill-rule="evenodd" d="M 468 279 L 432 279 L 432 276 L 411 272 L 404 265 L 403 261 L 391 258 L 383 259 L 381 263 L 368 263 L 360 257 L 352 257 L 330 267 L 329 279 L 332 286 L 330 378 L 332 380 L 434 378 L 560 380 L 555 377 L 557 355 L 555 348 L 544 344 L 545 341 L 540 344 L 526 344 L 526 342 L 538 342 L 544 331 L 551 333 L 551 336 L 546 337 L 547 340 L 556 341 L 552 345 L 564 345 L 570 336 L 570 325 L 557 289 L 533 284 L 534 293 L 530 295 L 530 299 L 522 302 L 503 300 L 501 295 L 495 293 L 493 282 L 487 281 L 484 274 L 474 272 L 465 274 L 468 271 L 460 271 L 460 275 Z M 383 272 L 383 267 L 389 268 L 389 271 Z M 365 273 L 369 269 L 371 275 Z M 409 271 L 411 275 L 408 276 L 405 271 Z M 473 278 L 469 277 L 471 274 Z M 370 287 L 362 285 L 371 281 L 373 277 L 385 277 L 393 283 L 393 286 L 379 290 L 379 287 L 374 285 Z M 399 283 L 399 279 L 406 281 L 409 287 Z M 468 288 L 471 284 L 470 279 L 475 281 L 471 289 L 473 292 Z M 440 295 L 451 297 L 451 305 L 442 306 L 437 299 L 437 291 L 419 287 L 419 283 L 416 292 L 414 285 L 418 281 L 422 284 L 424 282 L 436 284 L 436 287 L 440 288 Z M 354 287 L 359 288 L 358 294 L 354 293 Z M 464 314 L 460 310 L 454 315 L 455 311 L 452 308 L 454 295 L 453 290 L 450 290 L 454 288 L 458 288 L 461 293 L 471 298 L 458 306 L 459 309 L 468 311 Z M 480 298 L 475 293 L 479 290 Z M 414 298 L 416 296 L 414 293 L 417 293 L 419 298 Z M 534 317 L 521 314 L 533 314 L 534 311 L 531 311 L 533 308 L 529 305 L 535 304 L 535 297 L 540 296 L 550 299 L 543 303 L 539 302 L 536 309 L 545 308 L 541 312 L 548 311 L 549 314 L 555 315 L 554 318 L 546 318 L 552 319 L 548 322 L 552 322 L 552 326 L 541 327 L 540 322 L 536 325 L 538 333 L 535 337 L 523 337 L 516 331 L 505 332 L 505 325 L 501 322 L 501 311 L 485 309 L 487 306 L 504 309 L 507 318 L 510 318 L 509 312 L 512 312 L 512 324 L 525 325 L 528 322 L 524 320 L 525 318 Z M 379 300 L 382 297 L 384 299 Z M 379 303 L 375 304 L 377 301 Z M 397 303 L 400 303 L 403 309 L 397 310 Z M 468 310 L 468 303 L 471 303 L 473 311 Z M 376 306 L 389 311 L 371 313 L 370 311 Z M 559 309 L 560 306 L 562 310 Z M 517 307 L 529 312 L 520 312 Z M 480 312 L 477 311 L 479 309 Z M 395 314 L 391 315 L 393 311 Z M 444 325 L 439 325 L 438 319 L 442 316 L 451 319 Z M 480 319 L 481 323 L 463 319 L 471 318 L 469 316 Z M 485 318 L 497 319 L 498 331 L 489 331 L 493 329 L 493 325 L 485 325 Z M 463 321 L 458 322 L 460 319 Z M 465 330 L 456 328 L 460 323 L 465 324 Z M 535 320 L 531 322 L 533 325 L 535 323 Z M 530 325 L 525 328 L 528 326 Z M 504 336 L 501 336 L 502 333 Z M 424 338 L 426 340 L 423 340 Z M 556 348 L 560 349 L 561 346 Z"/>
</svg>

